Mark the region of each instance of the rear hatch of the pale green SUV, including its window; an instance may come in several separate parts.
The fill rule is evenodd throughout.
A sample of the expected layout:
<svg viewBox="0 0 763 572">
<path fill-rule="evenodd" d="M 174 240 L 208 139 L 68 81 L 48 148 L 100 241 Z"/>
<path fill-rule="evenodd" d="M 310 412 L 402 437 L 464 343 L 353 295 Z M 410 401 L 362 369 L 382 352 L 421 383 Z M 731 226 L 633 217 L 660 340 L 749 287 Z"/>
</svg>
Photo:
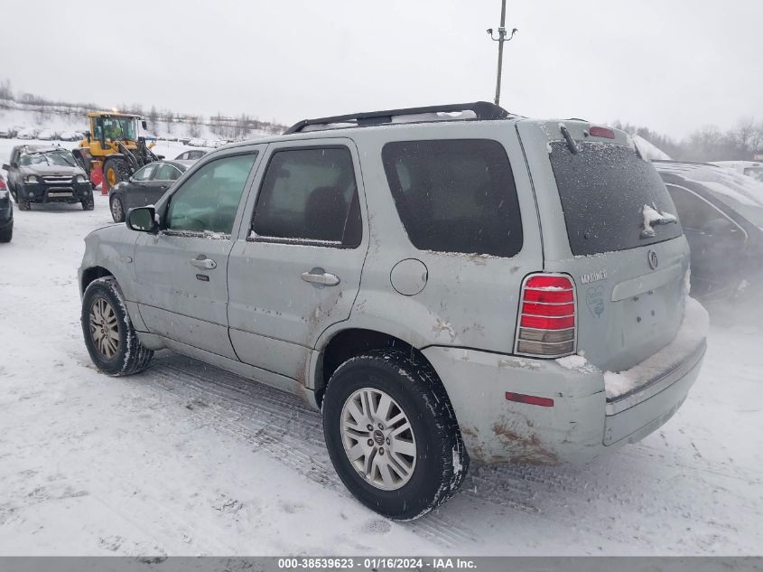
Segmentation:
<svg viewBox="0 0 763 572">
<path fill-rule="evenodd" d="M 522 121 L 544 270 L 572 278 L 576 351 L 628 370 L 672 342 L 684 316 L 689 249 L 654 166 L 627 134 L 572 121 Z"/>
</svg>

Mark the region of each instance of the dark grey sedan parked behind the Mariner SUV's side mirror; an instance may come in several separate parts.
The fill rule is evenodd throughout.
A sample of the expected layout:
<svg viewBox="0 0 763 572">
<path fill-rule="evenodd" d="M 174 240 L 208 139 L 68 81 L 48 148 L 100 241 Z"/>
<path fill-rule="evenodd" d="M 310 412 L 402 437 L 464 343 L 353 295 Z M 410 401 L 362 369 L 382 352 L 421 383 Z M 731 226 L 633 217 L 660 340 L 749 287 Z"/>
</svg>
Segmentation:
<svg viewBox="0 0 763 572">
<path fill-rule="evenodd" d="M 193 161 L 158 161 L 139 169 L 127 181 L 116 183 L 108 190 L 111 218 L 124 222 L 127 211 L 162 198 L 172 183 L 185 173 Z"/>
</svg>

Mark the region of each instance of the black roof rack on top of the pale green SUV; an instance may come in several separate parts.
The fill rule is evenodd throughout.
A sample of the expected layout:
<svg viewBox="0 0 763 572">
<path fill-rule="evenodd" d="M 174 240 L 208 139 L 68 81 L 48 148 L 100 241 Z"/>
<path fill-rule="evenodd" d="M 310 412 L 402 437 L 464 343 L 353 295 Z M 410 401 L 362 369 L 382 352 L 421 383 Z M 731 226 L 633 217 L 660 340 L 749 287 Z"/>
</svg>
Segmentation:
<svg viewBox="0 0 763 572">
<path fill-rule="evenodd" d="M 368 127 L 373 125 L 385 125 L 395 123 L 393 117 L 400 116 L 424 116 L 426 114 L 437 113 L 458 113 L 464 111 L 471 111 L 474 117 L 453 117 L 453 119 L 506 119 L 511 114 L 504 108 L 501 108 L 493 103 L 487 101 L 474 101 L 471 103 L 452 103 L 450 105 L 437 105 L 428 106 L 424 108 L 403 108 L 403 109 L 386 109 L 384 111 L 370 111 L 366 113 L 350 113 L 349 115 L 339 115 L 334 117 L 320 117 L 318 119 L 302 119 L 295 123 L 292 127 L 289 127 L 284 131 L 284 135 L 290 135 L 292 133 L 300 133 L 305 127 L 309 126 L 327 126 L 332 124 L 349 124 L 348 127 Z M 426 118 L 418 119 L 419 121 L 427 121 Z M 429 119 L 430 121 L 436 119 Z M 406 122 L 414 122 L 416 119 L 411 117 Z M 398 121 L 398 123 L 401 123 Z M 320 129 L 320 127 L 319 127 Z"/>
</svg>

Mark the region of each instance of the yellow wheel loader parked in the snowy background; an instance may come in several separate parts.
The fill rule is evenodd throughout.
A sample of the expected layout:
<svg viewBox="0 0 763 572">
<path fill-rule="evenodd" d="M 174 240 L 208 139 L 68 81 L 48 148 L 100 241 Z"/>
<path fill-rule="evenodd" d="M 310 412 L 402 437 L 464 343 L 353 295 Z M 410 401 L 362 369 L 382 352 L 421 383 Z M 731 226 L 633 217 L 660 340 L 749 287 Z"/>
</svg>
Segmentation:
<svg viewBox="0 0 763 572">
<path fill-rule="evenodd" d="M 163 158 L 154 155 L 145 137 L 138 136 L 138 121 L 146 128 L 143 117 L 95 112 L 88 113 L 88 119 L 89 132 L 72 153 L 94 185 L 103 183 L 104 194 L 145 164 Z"/>
</svg>

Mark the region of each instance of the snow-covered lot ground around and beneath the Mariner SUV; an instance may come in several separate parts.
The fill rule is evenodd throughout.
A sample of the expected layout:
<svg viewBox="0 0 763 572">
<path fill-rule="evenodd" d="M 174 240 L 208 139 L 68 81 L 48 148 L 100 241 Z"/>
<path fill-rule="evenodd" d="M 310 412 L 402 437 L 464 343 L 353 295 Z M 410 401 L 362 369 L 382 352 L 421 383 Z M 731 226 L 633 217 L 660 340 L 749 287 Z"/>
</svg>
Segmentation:
<svg viewBox="0 0 763 572">
<path fill-rule="evenodd" d="M 472 467 L 439 511 L 395 523 L 345 491 L 319 414 L 298 399 L 171 352 L 133 377 L 95 370 L 76 269 L 83 237 L 111 224 L 105 197 L 95 211 L 34 206 L 15 217 L 13 242 L 0 245 L 1 555 L 737 555 L 763 546 L 756 320 L 715 320 L 689 399 L 642 443 L 582 467 Z"/>
</svg>

